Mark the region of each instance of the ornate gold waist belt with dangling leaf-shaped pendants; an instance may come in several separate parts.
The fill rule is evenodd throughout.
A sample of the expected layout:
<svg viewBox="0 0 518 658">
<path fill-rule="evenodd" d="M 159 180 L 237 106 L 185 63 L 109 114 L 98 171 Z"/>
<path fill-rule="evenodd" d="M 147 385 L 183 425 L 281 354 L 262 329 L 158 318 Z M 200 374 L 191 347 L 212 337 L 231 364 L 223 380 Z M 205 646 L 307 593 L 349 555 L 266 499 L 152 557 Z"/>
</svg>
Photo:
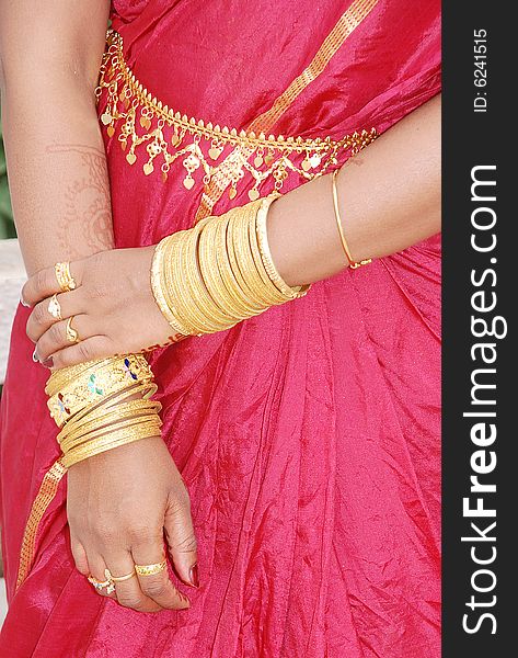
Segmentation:
<svg viewBox="0 0 518 658">
<path fill-rule="evenodd" d="M 106 90 L 106 105 L 101 123 L 110 137 L 117 133 L 129 164 L 135 164 L 140 158 L 146 175 L 160 167 L 162 179 L 166 181 L 171 167 L 181 161 L 185 169 L 183 184 L 187 190 L 193 189 L 195 177 L 200 175 L 204 185 L 208 185 L 220 168 L 230 166 L 231 171 L 226 172 L 231 181 L 230 198 L 237 195 L 245 171 L 253 179 L 249 197 L 255 201 L 265 180 L 273 179 L 277 191 L 281 190 L 290 174 L 310 181 L 336 166 L 341 151 L 355 155 L 377 137 L 375 128 L 355 132 L 339 140 L 274 136 L 238 132 L 182 115 L 158 101 L 137 80 L 124 59 L 123 38 L 113 30 L 108 31 L 107 50 L 95 91 L 97 101 L 103 90 Z M 226 146 L 242 146 L 251 156 L 244 162 L 229 164 L 222 160 L 218 163 Z"/>
</svg>

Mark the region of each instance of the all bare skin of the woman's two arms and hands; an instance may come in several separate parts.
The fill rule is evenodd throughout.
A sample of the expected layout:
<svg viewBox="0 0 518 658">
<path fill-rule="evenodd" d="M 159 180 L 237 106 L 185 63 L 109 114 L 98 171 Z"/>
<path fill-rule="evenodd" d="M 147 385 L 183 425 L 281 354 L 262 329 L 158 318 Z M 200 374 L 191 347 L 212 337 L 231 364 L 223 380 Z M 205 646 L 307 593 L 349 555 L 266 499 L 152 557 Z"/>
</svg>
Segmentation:
<svg viewBox="0 0 518 658">
<path fill-rule="evenodd" d="M 32 274 L 22 298 L 33 307 L 27 334 L 36 355 L 59 368 L 166 344 L 171 328 L 150 287 L 153 248 L 112 249 L 105 160 L 92 98 L 107 3 L 89 0 L 69 12 L 64 1 L 47 2 L 43 24 L 38 16 L 32 27 L 39 42 L 34 46 L 26 35 L 27 23 L 35 23 L 33 3 L 23 0 L 15 9 L 10 4 L 0 2 L 2 109 L 16 226 Z M 16 46 L 10 43 L 15 44 L 13 36 L 21 37 L 22 30 L 30 45 L 27 58 L 20 63 Z M 41 56 L 42 48 L 47 57 Z M 64 70 L 64 61 L 77 66 Z M 33 80 L 41 73 L 44 83 L 35 90 Z M 35 105 L 42 109 L 36 116 Z M 45 118 L 47 113 L 51 122 Z M 30 180 L 27 171 L 34 172 Z M 344 231 L 357 260 L 400 251 L 438 232 L 440 97 L 349 160 L 337 184 Z M 84 202 L 85 190 L 94 203 Z M 84 240 L 72 240 L 76 231 Z M 347 266 L 329 175 L 273 204 L 268 241 L 279 273 L 291 285 L 313 283 Z M 48 297 L 59 291 L 53 269 L 58 260 L 72 261 L 78 283 L 77 290 L 58 294 L 64 318 L 74 316 L 73 327 L 82 339 L 76 345 L 66 341 L 66 321 L 56 321 L 47 310 Z M 149 481 L 156 486 L 149 487 Z M 173 564 L 188 582 L 188 567 L 196 561 L 188 496 L 160 438 L 74 465 L 68 490 L 72 551 L 81 572 L 90 570 L 103 579 L 105 564 L 118 576 L 128 572 L 133 561 L 160 561 L 165 530 Z M 119 603 L 137 610 L 181 608 L 177 590 L 165 575 L 160 578 L 151 588 L 147 579 L 120 583 Z"/>
</svg>

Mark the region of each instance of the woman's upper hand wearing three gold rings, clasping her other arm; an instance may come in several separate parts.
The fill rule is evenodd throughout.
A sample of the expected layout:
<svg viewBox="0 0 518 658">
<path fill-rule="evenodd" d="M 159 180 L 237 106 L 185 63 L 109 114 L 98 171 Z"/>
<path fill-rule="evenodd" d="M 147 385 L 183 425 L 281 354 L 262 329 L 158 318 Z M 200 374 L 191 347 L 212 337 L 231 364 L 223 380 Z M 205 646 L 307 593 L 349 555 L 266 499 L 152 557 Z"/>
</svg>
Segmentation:
<svg viewBox="0 0 518 658">
<path fill-rule="evenodd" d="M 54 268 L 37 272 L 23 286 L 22 303 L 33 306 L 27 336 L 35 359 L 51 368 L 115 354 L 150 351 L 174 341 L 151 291 L 154 247 L 114 249 L 70 263 L 76 288 L 61 293 Z M 49 311 L 57 293 L 62 319 Z M 67 338 L 67 322 L 79 342 Z"/>
</svg>

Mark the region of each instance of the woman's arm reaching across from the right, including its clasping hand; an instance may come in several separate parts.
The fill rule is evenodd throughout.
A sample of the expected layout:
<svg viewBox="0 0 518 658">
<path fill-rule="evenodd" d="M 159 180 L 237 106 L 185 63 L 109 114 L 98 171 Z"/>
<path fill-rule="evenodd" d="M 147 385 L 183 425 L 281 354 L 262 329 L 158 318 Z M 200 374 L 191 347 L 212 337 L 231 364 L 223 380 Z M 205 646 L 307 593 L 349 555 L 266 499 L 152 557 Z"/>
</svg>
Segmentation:
<svg viewBox="0 0 518 658">
<path fill-rule="evenodd" d="M 353 258 L 382 257 L 440 229 L 440 97 L 407 115 L 338 175 L 338 204 Z M 290 285 L 332 276 L 347 264 L 336 225 L 331 175 L 314 179 L 275 201 L 268 242 Z M 23 294 L 36 304 L 27 333 L 41 359 L 55 367 L 163 344 L 171 328 L 150 287 L 153 247 L 99 253 L 73 264 L 80 287 L 60 296 L 64 317 L 82 314 L 82 341 L 70 347 L 45 299 L 56 292 L 54 272 L 33 277 Z M 118 276 L 114 277 L 113 272 Z M 78 318 L 79 320 L 79 318 Z M 88 320 L 88 321 L 87 321 Z M 131 327 L 128 332 L 127 327 Z"/>
</svg>

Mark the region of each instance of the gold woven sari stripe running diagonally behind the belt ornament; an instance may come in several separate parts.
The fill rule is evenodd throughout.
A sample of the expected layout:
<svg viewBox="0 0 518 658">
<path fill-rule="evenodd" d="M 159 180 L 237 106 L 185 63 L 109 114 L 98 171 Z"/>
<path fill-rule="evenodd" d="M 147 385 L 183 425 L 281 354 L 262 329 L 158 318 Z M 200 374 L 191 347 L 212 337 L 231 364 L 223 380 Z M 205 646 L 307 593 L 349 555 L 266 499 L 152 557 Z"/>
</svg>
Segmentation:
<svg viewBox="0 0 518 658">
<path fill-rule="evenodd" d="M 269 110 L 257 116 L 249 127 L 252 132 L 268 132 L 293 103 L 300 93 L 315 80 L 325 69 L 333 55 L 341 48 L 347 37 L 358 27 L 364 19 L 376 7 L 378 0 L 356 0 L 342 14 L 330 34 L 325 37 L 311 64 L 298 76 L 289 87 L 275 100 Z M 221 198 L 231 183 L 229 172 L 234 161 L 246 161 L 253 151 L 238 146 L 228 157 L 228 167 L 220 167 L 216 175 L 205 185 L 202 202 L 196 213 L 196 222 L 211 214 L 214 206 Z M 226 162 L 227 162 L 226 160 Z"/>
</svg>

